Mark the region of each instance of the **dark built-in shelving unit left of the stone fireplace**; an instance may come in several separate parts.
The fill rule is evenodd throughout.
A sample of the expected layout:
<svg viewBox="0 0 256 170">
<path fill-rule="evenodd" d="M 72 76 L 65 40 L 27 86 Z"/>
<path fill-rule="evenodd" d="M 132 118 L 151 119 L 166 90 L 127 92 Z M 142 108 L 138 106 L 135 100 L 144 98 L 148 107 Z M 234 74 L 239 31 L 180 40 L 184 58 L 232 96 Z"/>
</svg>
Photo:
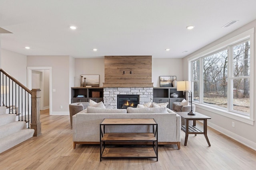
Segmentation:
<svg viewBox="0 0 256 170">
<path fill-rule="evenodd" d="M 94 100 L 97 103 L 103 101 L 103 88 L 102 87 L 72 87 L 71 88 L 71 103 L 89 102 L 90 99 Z"/>
</svg>

